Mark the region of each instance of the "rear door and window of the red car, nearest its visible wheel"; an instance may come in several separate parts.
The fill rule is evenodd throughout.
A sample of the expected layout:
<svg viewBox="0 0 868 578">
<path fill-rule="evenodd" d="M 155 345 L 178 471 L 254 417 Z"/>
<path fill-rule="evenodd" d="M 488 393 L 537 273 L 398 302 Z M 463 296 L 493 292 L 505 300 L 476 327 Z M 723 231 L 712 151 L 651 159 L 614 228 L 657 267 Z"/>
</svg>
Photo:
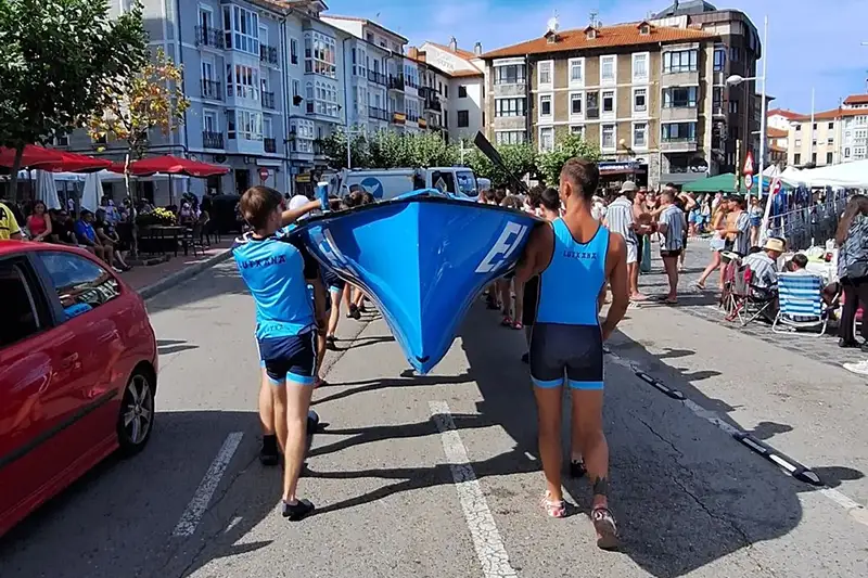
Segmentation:
<svg viewBox="0 0 868 578">
<path fill-rule="evenodd" d="M 94 462 L 104 455 L 105 444 L 113 444 L 120 387 L 129 373 L 118 326 L 120 285 L 95 259 L 62 251 L 38 255 L 50 305 L 69 337 L 59 344 L 59 355 L 78 369 L 68 395 L 58 400 L 62 411 L 75 416 L 63 451 Z"/>
</svg>

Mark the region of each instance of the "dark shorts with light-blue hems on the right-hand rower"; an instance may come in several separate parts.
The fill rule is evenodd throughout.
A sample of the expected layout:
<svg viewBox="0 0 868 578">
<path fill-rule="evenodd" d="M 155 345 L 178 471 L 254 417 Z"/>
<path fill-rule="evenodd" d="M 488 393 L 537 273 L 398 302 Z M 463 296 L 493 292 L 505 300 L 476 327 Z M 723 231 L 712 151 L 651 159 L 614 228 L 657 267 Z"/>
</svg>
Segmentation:
<svg viewBox="0 0 868 578">
<path fill-rule="evenodd" d="M 537 323 L 531 334 L 531 380 L 545 389 L 603 388 L 603 337 L 599 325 Z"/>
</svg>

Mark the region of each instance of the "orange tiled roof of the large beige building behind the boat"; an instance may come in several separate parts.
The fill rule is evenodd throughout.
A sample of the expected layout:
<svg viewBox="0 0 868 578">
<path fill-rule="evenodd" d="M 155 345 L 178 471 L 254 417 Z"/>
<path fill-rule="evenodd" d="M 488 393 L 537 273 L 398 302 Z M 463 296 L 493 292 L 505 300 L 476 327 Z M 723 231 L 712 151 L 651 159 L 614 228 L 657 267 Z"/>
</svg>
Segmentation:
<svg viewBox="0 0 868 578">
<path fill-rule="evenodd" d="M 671 26 L 651 26 L 650 34 L 639 33 L 640 23 L 602 26 L 597 29 L 596 38 L 588 38 L 585 29 L 563 30 L 558 33 L 558 41 L 549 42 L 546 37 L 535 38 L 500 48 L 482 55 L 483 59 L 500 59 L 524 56 L 525 54 L 545 54 L 567 50 L 588 50 L 593 48 L 626 47 L 637 44 L 655 44 L 659 42 L 678 42 L 685 40 L 704 40 L 716 35 L 694 28 L 674 28 Z"/>
</svg>

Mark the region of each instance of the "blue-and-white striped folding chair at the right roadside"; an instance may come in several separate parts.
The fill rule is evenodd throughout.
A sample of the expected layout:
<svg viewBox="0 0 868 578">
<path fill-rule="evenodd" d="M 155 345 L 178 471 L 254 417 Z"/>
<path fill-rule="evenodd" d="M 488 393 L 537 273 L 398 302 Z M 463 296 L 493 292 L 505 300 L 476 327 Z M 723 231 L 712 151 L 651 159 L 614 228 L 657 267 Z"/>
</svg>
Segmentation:
<svg viewBox="0 0 868 578">
<path fill-rule="evenodd" d="M 822 278 L 801 273 L 778 273 L 780 309 L 771 325 L 775 333 L 790 333 L 793 329 L 819 327 L 826 333 L 829 311 L 822 301 Z"/>
</svg>

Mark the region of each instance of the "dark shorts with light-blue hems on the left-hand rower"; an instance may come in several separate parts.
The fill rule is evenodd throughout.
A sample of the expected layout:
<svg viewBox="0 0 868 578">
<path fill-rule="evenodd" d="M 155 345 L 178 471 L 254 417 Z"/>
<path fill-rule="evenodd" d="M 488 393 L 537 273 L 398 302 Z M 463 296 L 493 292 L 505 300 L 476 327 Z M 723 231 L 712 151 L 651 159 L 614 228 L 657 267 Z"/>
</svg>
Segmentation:
<svg viewBox="0 0 868 578">
<path fill-rule="evenodd" d="M 258 339 L 259 361 L 273 385 L 285 382 L 314 385 L 317 371 L 317 332 Z"/>
</svg>

